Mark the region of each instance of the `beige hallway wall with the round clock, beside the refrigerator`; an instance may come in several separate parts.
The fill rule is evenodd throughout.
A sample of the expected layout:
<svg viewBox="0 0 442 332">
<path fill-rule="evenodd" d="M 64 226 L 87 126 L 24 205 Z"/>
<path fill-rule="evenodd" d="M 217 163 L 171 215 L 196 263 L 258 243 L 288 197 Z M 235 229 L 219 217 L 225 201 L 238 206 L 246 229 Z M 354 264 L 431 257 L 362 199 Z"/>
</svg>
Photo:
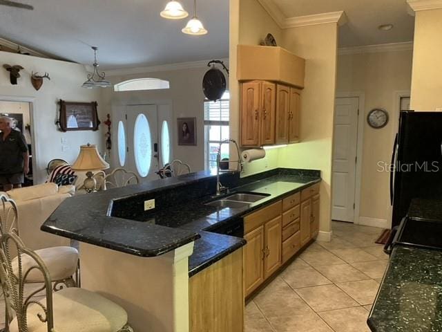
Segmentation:
<svg viewBox="0 0 442 332">
<path fill-rule="evenodd" d="M 360 216 L 388 221 L 390 218 L 390 174 L 378 172 L 378 161 L 390 163 L 397 131 L 398 91 L 410 91 L 412 50 L 339 55 L 337 93 L 364 93 L 363 159 Z M 382 129 L 369 127 L 365 118 L 371 109 L 381 107 L 390 115 Z"/>
</svg>

